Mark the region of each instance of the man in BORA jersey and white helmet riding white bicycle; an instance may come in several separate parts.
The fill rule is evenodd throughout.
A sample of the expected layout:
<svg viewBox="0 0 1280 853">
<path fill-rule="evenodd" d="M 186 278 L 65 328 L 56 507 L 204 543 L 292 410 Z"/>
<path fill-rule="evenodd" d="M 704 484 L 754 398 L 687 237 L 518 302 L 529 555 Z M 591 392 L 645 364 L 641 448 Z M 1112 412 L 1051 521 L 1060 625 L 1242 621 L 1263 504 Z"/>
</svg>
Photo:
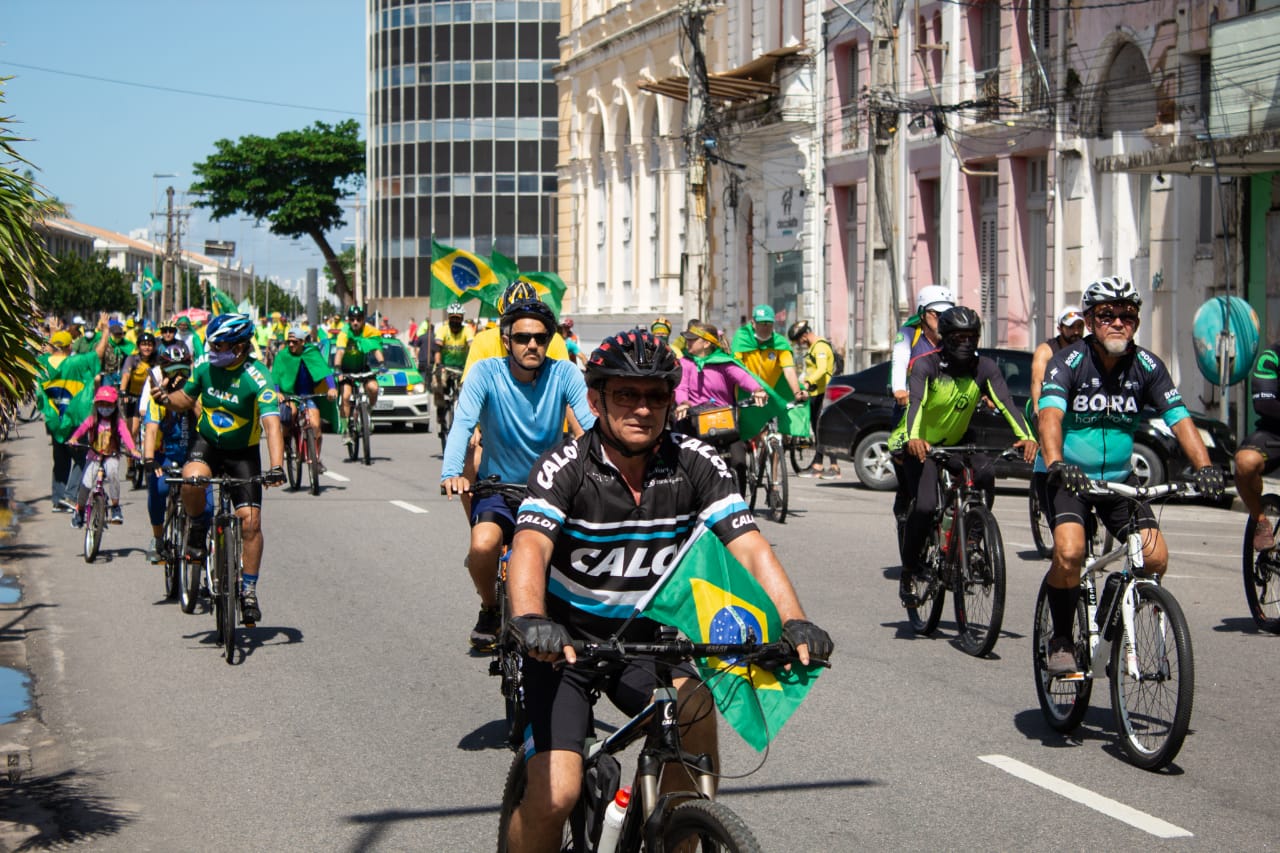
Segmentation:
<svg viewBox="0 0 1280 853">
<path fill-rule="evenodd" d="M 1160 412 L 1196 467 L 1196 488 L 1211 500 L 1222 494 L 1222 471 L 1210 464 L 1169 370 L 1156 353 L 1133 342 L 1142 307 L 1138 291 L 1112 275 L 1089 284 L 1080 305 L 1089 337 L 1050 360 L 1039 397 L 1041 452 L 1048 467 L 1046 511 L 1053 519 L 1053 561 L 1044 575 L 1053 619 L 1046 661 L 1051 675 L 1076 670 L 1071 638 L 1089 507 L 1114 535 L 1120 535 L 1129 520 L 1124 498 L 1088 492 L 1091 479 L 1137 484 L 1130 459 L 1138 412 L 1147 406 Z M 1139 508 L 1138 526 L 1151 530 L 1143 537 L 1146 571 L 1162 575 L 1169 549 L 1149 507 Z"/>
</svg>

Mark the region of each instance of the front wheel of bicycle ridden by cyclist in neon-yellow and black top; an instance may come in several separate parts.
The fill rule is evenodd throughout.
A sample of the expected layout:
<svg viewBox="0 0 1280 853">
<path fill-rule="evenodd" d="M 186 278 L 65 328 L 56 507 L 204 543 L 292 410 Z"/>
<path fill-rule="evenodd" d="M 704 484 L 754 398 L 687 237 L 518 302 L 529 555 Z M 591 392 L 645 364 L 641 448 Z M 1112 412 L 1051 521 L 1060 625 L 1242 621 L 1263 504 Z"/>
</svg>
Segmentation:
<svg viewBox="0 0 1280 853">
<path fill-rule="evenodd" d="M 1005 619 L 1005 543 L 986 506 L 964 514 L 964 548 L 952 597 L 960 648 L 974 657 L 989 654 Z"/>
</svg>

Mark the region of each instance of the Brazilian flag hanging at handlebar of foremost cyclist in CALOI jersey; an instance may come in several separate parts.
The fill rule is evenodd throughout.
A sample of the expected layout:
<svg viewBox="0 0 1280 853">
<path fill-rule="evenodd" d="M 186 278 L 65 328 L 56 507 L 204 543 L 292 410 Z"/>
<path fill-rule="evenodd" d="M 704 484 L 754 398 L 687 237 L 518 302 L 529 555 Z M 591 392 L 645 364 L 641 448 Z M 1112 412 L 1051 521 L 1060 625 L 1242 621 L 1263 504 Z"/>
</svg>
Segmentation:
<svg viewBox="0 0 1280 853">
<path fill-rule="evenodd" d="M 773 602 L 728 548 L 705 528 L 641 605 L 649 619 L 671 625 L 695 643 L 760 643 L 782 638 Z M 724 720 L 756 752 L 764 749 L 818 678 L 799 663 L 772 672 L 733 661 L 699 658 L 698 669 Z"/>
</svg>

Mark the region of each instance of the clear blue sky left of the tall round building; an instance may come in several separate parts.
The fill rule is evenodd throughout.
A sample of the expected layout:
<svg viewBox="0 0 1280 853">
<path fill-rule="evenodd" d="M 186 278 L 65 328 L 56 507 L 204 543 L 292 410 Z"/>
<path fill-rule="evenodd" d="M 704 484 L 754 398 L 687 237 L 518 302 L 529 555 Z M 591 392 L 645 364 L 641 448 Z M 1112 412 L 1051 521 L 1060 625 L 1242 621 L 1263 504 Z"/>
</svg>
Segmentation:
<svg viewBox="0 0 1280 853">
<path fill-rule="evenodd" d="M 0 77 L 13 77 L 0 85 L 0 110 L 31 140 L 18 151 L 37 181 L 81 222 L 147 228 L 165 187 L 184 191 L 216 140 L 365 124 L 364 0 L 4 0 L 0 9 Z M 355 236 L 347 219 L 329 234 L 335 250 Z M 156 227 L 163 233 L 163 218 Z M 205 240 L 234 240 L 260 275 L 301 280 L 323 266 L 310 240 L 238 218 L 210 223 L 197 210 L 183 245 Z"/>
</svg>

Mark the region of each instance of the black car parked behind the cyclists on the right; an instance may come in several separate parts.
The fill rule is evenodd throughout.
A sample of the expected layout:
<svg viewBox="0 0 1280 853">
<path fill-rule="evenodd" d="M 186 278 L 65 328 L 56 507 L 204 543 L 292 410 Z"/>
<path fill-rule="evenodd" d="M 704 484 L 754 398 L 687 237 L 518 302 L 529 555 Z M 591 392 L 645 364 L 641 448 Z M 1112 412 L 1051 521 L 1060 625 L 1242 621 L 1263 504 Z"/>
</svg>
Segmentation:
<svg viewBox="0 0 1280 853">
<path fill-rule="evenodd" d="M 1014 402 L 1025 411 L 1030 398 L 1032 353 L 1021 350 L 982 350 L 995 359 L 1009 383 Z M 826 403 L 818 421 L 818 446 L 823 453 L 852 460 L 858 478 L 873 489 L 893 489 L 897 478 L 890 461 L 888 435 L 893 429 L 893 396 L 888 387 L 890 362 L 865 370 L 833 377 L 827 386 Z M 1230 428 L 1201 412 L 1192 412 L 1212 462 L 1224 469 L 1230 482 L 1235 437 Z M 979 406 L 969 424 L 975 444 L 1002 447 L 1014 443 L 1014 433 L 1000 412 Z M 1164 419 L 1153 410 L 1143 412 L 1133 435 L 1133 470 L 1147 485 L 1164 483 L 1170 476 L 1180 479 L 1188 466 L 1181 447 Z M 1030 479 L 1032 466 L 1025 462 L 996 464 L 1000 476 Z"/>
</svg>

